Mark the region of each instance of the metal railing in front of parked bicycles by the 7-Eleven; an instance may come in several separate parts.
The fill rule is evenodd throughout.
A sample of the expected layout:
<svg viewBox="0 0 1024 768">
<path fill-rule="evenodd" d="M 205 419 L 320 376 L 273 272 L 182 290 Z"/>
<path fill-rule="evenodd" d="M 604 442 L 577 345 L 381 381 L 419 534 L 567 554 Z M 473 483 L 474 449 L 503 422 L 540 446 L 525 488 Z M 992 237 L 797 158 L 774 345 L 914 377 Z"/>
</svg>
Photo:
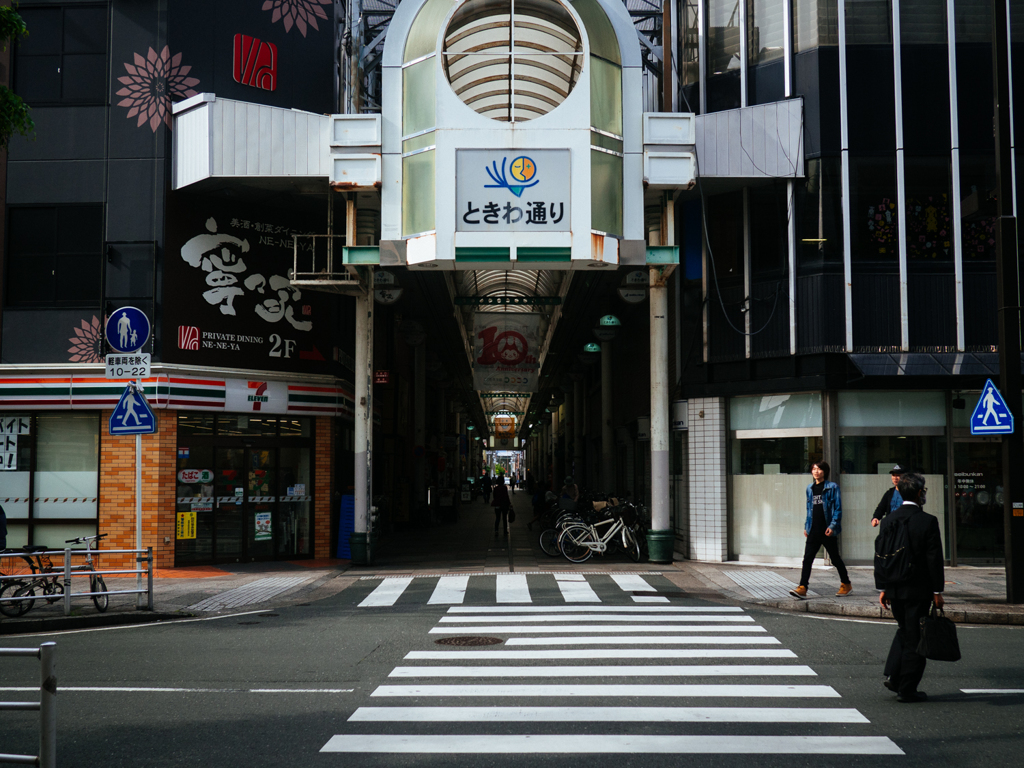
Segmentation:
<svg viewBox="0 0 1024 768">
<path fill-rule="evenodd" d="M 72 558 L 77 555 L 81 555 L 88 559 L 89 555 L 93 559 L 97 555 L 135 555 L 135 562 L 145 563 L 144 567 L 134 568 L 134 569 L 121 569 L 121 570 L 98 570 L 92 569 L 88 565 L 73 565 Z M 10 567 L 9 564 L 5 565 L 4 560 L 19 561 L 16 565 L 18 571 L 24 571 L 27 567 L 22 565 L 25 562 L 25 558 L 31 557 L 49 557 L 59 556 L 62 559 L 62 564 L 51 566 L 50 570 L 44 570 L 41 572 L 13 572 L 15 568 Z M 136 589 L 133 590 L 106 590 L 103 592 L 73 592 L 72 591 L 72 577 L 94 577 L 98 575 L 100 578 L 108 575 L 131 575 L 136 577 Z M 47 581 L 52 580 L 57 575 L 62 575 L 61 585 L 63 587 L 63 593 L 60 595 L 54 594 L 33 594 L 24 597 L 14 597 L 8 592 L 3 596 L 3 601 L 5 603 L 9 602 L 32 602 L 35 603 L 36 600 L 48 600 L 50 602 L 55 602 L 55 600 L 63 601 L 63 613 L 65 615 L 71 615 L 71 601 L 74 598 L 93 598 L 101 597 L 102 595 L 138 595 L 138 601 L 136 607 L 142 609 L 142 595 L 146 596 L 145 610 L 153 610 L 153 547 L 146 547 L 145 549 L 104 549 L 104 550 L 85 550 L 85 549 L 62 549 L 62 550 L 47 550 L 45 552 L 23 552 L 20 550 L 4 550 L 0 552 L 0 588 L 8 582 L 35 582 L 35 581 Z M 143 589 L 141 587 L 141 577 L 145 575 L 146 586 Z M 91 585 L 91 579 L 90 579 Z"/>
</svg>

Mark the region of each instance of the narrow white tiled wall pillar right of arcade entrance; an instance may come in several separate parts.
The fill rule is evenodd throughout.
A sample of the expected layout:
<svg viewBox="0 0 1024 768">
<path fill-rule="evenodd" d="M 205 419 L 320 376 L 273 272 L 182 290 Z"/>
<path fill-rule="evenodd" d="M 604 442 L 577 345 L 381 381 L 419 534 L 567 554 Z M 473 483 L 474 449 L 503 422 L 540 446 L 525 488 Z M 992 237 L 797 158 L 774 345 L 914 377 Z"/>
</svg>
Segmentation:
<svg viewBox="0 0 1024 768">
<path fill-rule="evenodd" d="M 724 397 L 691 397 L 689 431 L 690 558 L 723 562 L 729 558 Z"/>
</svg>

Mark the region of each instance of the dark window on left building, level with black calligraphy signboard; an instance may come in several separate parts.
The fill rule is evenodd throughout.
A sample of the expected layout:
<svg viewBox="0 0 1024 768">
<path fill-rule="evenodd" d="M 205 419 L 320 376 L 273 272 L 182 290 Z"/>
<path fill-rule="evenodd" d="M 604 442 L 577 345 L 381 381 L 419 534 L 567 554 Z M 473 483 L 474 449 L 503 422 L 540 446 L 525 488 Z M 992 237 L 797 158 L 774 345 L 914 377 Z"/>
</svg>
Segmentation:
<svg viewBox="0 0 1024 768">
<path fill-rule="evenodd" d="M 102 206 L 10 208 L 7 225 L 7 306 L 99 304 Z"/>
</svg>

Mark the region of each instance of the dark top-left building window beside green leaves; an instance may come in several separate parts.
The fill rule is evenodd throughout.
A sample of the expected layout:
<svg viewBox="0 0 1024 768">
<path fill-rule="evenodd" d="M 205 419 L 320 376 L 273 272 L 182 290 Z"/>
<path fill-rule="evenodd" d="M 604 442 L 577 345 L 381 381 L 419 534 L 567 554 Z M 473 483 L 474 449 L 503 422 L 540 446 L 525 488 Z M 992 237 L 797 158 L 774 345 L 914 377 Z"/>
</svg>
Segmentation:
<svg viewBox="0 0 1024 768">
<path fill-rule="evenodd" d="M 24 8 L 14 90 L 34 106 L 106 103 L 106 6 Z"/>
</svg>

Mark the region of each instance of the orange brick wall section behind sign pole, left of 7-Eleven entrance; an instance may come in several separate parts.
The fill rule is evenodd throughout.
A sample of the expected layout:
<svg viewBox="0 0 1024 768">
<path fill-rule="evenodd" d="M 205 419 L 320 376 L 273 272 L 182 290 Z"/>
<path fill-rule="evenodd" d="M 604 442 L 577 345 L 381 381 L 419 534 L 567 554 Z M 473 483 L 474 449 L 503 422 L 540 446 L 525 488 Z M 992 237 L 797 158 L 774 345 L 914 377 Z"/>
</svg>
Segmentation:
<svg viewBox="0 0 1024 768">
<path fill-rule="evenodd" d="M 102 424 L 111 417 L 102 414 Z M 157 413 L 157 433 L 142 435 L 142 547 L 153 547 L 155 567 L 174 565 L 174 490 L 177 469 L 177 413 Z M 99 436 L 99 532 L 102 549 L 135 547 L 135 437 Z M 165 543 L 165 539 L 168 540 Z M 118 558 L 103 558 L 117 566 Z M 128 556 L 120 565 L 133 567 Z"/>
</svg>

